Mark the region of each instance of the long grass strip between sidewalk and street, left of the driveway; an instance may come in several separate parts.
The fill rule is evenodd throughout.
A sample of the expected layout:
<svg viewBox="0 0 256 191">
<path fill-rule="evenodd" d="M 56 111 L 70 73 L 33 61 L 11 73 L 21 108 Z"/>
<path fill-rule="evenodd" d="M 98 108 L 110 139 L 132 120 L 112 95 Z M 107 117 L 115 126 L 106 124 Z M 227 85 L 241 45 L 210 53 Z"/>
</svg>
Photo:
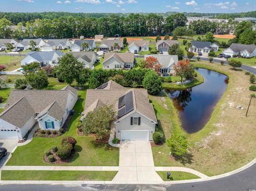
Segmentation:
<svg viewBox="0 0 256 191">
<path fill-rule="evenodd" d="M 52 170 L 3 170 L 1 180 L 103 180 L 110 181 L 116 171 L 52 171 Z"/>
</svg>

